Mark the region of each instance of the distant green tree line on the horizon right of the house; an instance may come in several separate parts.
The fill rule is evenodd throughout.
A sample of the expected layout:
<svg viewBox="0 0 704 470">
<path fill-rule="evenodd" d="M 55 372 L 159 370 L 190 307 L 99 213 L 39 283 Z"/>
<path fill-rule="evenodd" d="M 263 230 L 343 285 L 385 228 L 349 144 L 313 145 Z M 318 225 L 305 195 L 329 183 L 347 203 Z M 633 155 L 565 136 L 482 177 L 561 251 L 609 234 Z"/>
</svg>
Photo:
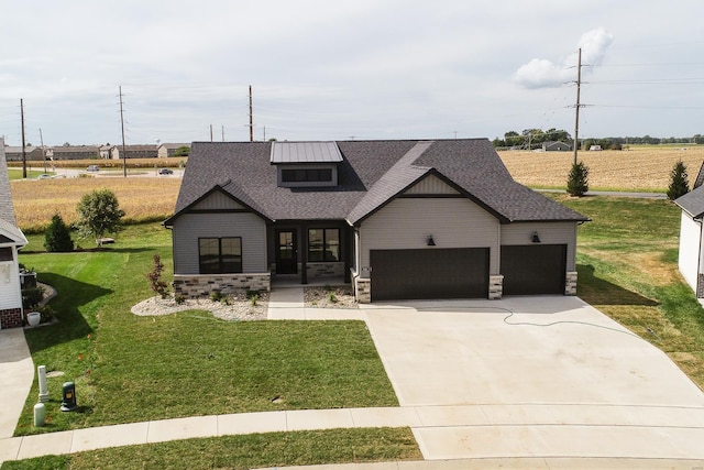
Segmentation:
<svg viewBox="0 0 704 470">
<path fill-rule="evenodd" d="M 508 131 L 504 138 L 495 138 L 492 143 L 495 149 L 524 149 L 536 150 L 542 147 L 546 142 L 564 142 L 572 145 L 572 135 L 565 130 L 548 129 L 524 129 L 522 132 Z M 630 144 L 704 144 L 704 135 L 694 134 L 689 138 L 653 138 L 648 134 L 642 136 L 619 136 L 619 138 L 588 138 L 580 139 L 580 149 L 588 150 L 592 145 L 600 145 L 604 150 L 622 150 Z"/>
</svg>

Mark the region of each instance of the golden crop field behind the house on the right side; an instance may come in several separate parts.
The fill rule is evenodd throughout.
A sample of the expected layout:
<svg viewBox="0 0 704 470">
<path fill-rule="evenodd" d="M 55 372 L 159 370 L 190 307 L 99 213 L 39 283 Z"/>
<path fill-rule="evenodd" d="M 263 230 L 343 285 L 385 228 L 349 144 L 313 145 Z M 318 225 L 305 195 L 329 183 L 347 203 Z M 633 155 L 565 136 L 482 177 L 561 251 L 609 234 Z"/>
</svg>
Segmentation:
<svg viewBox="0 0 704 470">
<path fill-rule="evenodd" d="M 498 154 L 512 176 L 532 188 L 564 188 L 574 161 L 572 152 L 519 150 Z M 692 185 L 704 161 L 704 145 L 631 145 L 623 151 L 581 151 L 578 159 L 590 168 L 591 190 L 664 193 L 678 160 L 686 165 Z"/>
</svg>

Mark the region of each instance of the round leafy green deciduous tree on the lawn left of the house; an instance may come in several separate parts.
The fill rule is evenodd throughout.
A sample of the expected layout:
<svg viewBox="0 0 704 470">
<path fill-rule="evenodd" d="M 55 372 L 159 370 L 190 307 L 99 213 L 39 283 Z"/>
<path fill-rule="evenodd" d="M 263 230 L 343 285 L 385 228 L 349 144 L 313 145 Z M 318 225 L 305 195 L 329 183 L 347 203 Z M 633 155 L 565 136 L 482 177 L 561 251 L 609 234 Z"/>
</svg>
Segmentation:
<svg viewBox="0 0 704 470">
<path fill-rule="evenodd" d="M 96 244 L 102 247 L 102 238 L 122 230 L 124 210 L 110 189 L 95 189 L 85 194 L 76 206 L 78 219 L 75 222 L 81 237 L 95 237 Z"/>
</svg>

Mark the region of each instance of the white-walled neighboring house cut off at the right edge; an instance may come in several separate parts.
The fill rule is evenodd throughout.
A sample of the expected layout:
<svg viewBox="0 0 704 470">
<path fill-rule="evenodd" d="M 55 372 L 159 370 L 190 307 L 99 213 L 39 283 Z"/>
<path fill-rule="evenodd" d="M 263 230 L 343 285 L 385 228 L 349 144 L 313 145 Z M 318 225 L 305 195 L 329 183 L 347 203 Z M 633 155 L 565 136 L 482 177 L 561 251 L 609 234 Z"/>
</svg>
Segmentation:
<svg viewBox="0 0 704 470">
<path fill-rule="evenodd" d="M 696 293 L 704 298 L 704 164 L 694 183 L 694 188 L 675 204 L 682 209 L 680 217 L 680 254 L 679 267 L 682 277 Z"/>
</svg>

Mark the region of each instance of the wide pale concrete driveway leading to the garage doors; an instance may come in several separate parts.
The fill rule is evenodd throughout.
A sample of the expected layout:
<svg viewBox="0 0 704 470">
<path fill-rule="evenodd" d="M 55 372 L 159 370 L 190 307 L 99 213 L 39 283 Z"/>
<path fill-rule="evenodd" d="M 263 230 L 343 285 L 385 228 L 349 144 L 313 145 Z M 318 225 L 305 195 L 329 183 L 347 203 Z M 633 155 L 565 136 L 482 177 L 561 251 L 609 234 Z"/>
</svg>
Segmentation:
<svg viewBox="0 0 704 470">
<path fill-rule="evenodd" d="M 426 459 L 704 459 L 704 393 L 576 297 L 373 305 L 366 318 L 400 405 L 431 406 L 414 428 Z"/>
</svg>

